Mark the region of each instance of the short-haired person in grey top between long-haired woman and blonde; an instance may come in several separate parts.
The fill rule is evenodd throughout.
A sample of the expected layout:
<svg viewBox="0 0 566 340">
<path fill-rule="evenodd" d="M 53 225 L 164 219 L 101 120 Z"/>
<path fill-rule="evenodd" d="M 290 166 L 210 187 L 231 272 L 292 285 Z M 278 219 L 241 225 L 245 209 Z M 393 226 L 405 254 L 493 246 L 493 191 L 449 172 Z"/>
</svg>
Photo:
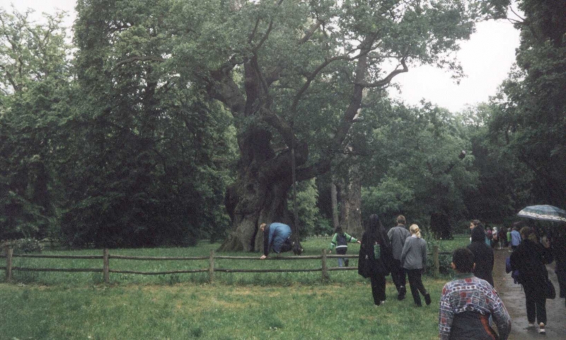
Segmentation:
<svg viewBox="0 0 566 340">
<path fill-rule="evenodd" d="M 395 288 L 397 288 L 397 299 L 403 300 L 405 294 L 407 294 L 407 279 L 405 277 L 405 270 L 403 269 L 403 263 L 401 263 L 401 253 L 403 253 L 403 246 L 405 246 L 405 240 L 411 236 L 410 232 L 405 227 L 407 220 L 405 216 L 399 215 L 397 217 L 397 226 L 389 229 L 387 232 L 387 237 L 391 241 L 391 248 L 393 249 L 393 263 L 391 263 L 391 278 L 393 278 L 393 283 L 395 283 Z"/>
</svg>

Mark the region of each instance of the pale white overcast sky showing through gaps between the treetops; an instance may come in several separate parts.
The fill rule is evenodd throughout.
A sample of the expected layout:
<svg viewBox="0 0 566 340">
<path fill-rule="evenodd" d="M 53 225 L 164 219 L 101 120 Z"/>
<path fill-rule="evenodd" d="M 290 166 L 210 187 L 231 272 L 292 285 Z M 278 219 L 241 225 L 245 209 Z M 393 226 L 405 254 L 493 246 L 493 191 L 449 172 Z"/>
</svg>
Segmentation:
<svg viewBox="0 0 566 340">
<path fill-rule="evenodd" d="M 65 25 L 70 27 L 74 21 L 75 0 L 0 0 L 0 7 L 6 9 L 12 3 L 18 11 L 25 8 L 33 8 L 36 13 L 54 13 L 56 9 L 67 11 L 69 17 Z M 410 105 L 417 105 L 424 99 L 451 112 L 462 111 L 495 96 L 497 86 L 511 70 L 517 47 L 519 31 L 509 21 L 479 23 L 476 32 L 470 40 L 461 43 L 457 53 L 466 74 L 459 85 L 451 79 L 449 72 L 434 67 L 415 67 L 395 77 L 400 92 L 390 89 L 390 94 Z"/>
</svg>

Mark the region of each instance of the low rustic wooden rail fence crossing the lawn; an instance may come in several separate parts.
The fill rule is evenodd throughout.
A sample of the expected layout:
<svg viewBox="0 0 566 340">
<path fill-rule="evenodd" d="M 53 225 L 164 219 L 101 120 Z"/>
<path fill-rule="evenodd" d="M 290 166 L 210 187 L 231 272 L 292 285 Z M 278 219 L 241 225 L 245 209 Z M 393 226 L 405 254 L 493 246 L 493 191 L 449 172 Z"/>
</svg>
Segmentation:
<svg viewBox="0 0 566 340">
<path fill-rule="evenodd" d="M 438 246 L 432 248 L 432 259 L 434 266 L 434 276 L 439 273 L 440 263 L 439 255 L 446 255 L 451 253 L 440 253 Z M 64 271 L 64 272 L 96 272 L 103 273 L 105 283 L 110 283 L 110 273 L 125 273 L 125 274 L 139 274 L 139 275 L 168 275 L 168 274 L 181 274 L 181 273 L 208 273 L 209 282 L 214 282 L 214 273 L 296 273 L 296 272 L 316 272 L 320 271 L 322 280 L 328 280 L 330 276 L 329 271 L 357 271 L 357 267 L 328 267 L 328 259 L 357 259 L 357 254 L 352 255 L 329 255 L 326 254 L 326 249 L 323 249 L 320 256 L 284 256 L 267 258 L 267 260 L 313 260 L 320 259 L 320 268 L 305 268 L 305 269 L 229 269 L 229 268 L 215 268 L 214 260 L 216 259 L 230 259 L 230 260 L 260 260 L 258 256 L 218 256 L 214 251 L 210 251 L 209 256 L 196 256 L 196 257 L 158 257 L 158 256 L 123 256 L 111 255 L 108 249 L 103 249 L 103 254 L 100 255 L 40 255 L 40 254 L 13 254 L 13 249 L 10 247 L 5 248 L 5 254 L 0 257 L 6 258 L 6 266 L 0 267 L 0 270 L 6 271 L 6 281 L 13 280 L 13 271 Z M 39 259 L 102 259 L 102 268 L 26 268 L 13 266 L 14 257 L 28 257 Z M 117 271 L 110 269 L 110 259 L 122 260 L 140 260 L 140 261 L 194 261 L 208 259 L 208 268 L 192 269 L 184 271 Z M 265 260 L 260 260 L 265 261 Z"/>
</svg>

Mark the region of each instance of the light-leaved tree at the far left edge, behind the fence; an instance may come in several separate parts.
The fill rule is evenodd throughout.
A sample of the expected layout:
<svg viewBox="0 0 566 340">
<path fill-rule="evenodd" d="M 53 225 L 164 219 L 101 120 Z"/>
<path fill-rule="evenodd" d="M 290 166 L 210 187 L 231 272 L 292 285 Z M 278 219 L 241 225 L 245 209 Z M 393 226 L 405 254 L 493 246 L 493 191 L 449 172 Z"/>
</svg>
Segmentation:
<svg viewBox="0 0 566 340">
<path fill-rule="evenodd" d="M 69 116 L 70 47 L 64 13 L 0 8 L 0 239 L 45 237 L 59 227 L 61 126 Z"/>
</svg>

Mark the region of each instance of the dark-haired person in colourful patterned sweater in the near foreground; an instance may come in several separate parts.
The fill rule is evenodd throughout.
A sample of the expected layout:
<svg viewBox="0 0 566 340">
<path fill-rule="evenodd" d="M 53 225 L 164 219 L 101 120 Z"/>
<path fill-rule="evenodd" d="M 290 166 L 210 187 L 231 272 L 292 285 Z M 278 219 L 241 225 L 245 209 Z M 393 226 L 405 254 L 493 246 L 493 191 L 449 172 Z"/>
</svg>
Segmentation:
<svg viewBox="0 0 566 340">
<path fill-rule="evenodd" d="M 438 326 L 440 339 L 507 339 L 511 331 L 509 312 L 492 285 L 473 275 L 472 252 L 456 249 L 451 266 L 456 277 L 442 288 Z M 499 336 L 490 327 L 490 316 Z"/>
</svg>

